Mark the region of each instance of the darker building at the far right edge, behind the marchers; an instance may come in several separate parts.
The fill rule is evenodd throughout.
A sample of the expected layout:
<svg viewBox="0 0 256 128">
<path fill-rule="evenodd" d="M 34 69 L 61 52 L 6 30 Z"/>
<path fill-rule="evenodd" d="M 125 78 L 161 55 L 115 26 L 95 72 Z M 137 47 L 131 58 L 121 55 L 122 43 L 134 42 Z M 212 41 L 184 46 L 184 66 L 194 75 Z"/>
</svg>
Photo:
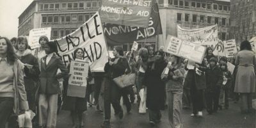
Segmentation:
<svg viewBox="0 0 256 128">
<path fill-rule="evenodd" d="M 256 36 L 256 0 L 230 1 L 230 36 L 237 44 Z"/>
</svg>

